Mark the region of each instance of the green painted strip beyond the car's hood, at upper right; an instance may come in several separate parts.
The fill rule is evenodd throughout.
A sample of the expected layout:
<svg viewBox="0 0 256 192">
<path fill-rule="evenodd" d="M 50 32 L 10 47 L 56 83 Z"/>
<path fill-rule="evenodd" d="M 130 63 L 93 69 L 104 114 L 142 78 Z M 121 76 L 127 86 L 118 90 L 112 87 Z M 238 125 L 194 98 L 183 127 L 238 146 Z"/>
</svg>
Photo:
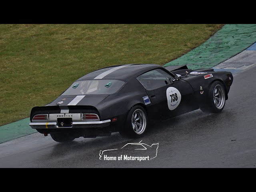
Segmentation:
<svg viewBox="0 0 256 192">
<path fill-rule="evenodd" d="M 212 68 L 256 42 L 256 24 L 226 24 L 202 45 L 168 62 L 191 69 Z"/>
</svg>

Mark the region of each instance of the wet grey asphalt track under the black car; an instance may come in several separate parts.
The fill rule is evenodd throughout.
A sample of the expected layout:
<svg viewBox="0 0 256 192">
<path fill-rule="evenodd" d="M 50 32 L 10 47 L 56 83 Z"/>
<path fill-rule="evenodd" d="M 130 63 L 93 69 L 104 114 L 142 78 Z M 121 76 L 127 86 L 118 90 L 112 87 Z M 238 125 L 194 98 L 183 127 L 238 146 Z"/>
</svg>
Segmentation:
<svg viewBox="0 0 256 192">
<path fill-rule="evenodd" d="M 159 124 L 142 139 L 78 138 L 58 144 L 36 133 L 0 144 L 0 167 L 180 168 L 256 167 L 256 65 L 234 75 L 229 99 L 220 114 L 196 110 Z M 106 161 L 100 150 L 128 142 L 159 143 L 149 161 Z"/>
</svg>

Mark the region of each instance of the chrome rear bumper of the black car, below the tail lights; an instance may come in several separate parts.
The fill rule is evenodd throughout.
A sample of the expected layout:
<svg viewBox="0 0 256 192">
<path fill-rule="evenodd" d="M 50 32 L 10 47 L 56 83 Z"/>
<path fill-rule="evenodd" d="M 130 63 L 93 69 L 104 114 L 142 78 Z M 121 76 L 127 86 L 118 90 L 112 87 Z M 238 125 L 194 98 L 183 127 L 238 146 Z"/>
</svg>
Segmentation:
<svg viewBox="0 0 256 192">
<path fill-rule="evenodd" d="M 110 125 L 111 120 L 104 121 L 76 121 L 72 122 L 72 127 L 59 127 L 57 122 L 30 122 L 33 129 L 73 129 L 73 128 L 102 128 Z"/>
</svg>

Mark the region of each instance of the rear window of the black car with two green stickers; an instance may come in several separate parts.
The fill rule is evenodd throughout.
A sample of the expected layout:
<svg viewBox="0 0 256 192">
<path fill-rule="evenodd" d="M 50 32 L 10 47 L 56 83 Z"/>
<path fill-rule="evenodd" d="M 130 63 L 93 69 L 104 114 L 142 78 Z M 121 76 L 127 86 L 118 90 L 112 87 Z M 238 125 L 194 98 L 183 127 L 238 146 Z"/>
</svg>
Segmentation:
<svg viewBox="0 0 256 192">
<path fill-rule="evenodd" d="M 114 94 L 125 82 L 121 80 L 84 80 L 74 82 L 62 95 Z"/>
</svg>

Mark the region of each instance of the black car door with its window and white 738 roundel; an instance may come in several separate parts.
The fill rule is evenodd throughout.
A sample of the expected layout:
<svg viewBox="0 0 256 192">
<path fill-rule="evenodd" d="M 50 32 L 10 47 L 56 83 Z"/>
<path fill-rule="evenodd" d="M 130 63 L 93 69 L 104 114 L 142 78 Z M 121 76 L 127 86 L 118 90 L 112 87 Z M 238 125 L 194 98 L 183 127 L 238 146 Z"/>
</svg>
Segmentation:
<svg viewBox="0 0 256 192">
<path fill-rule="evenodd" d="M 151 105 L 150 118 L 168 118 L 196 109 L 194 91 L 185 80 L 174 77 L 161 68 L 151 70 L 137 77 L 146 88 Z"/>
</svg>

